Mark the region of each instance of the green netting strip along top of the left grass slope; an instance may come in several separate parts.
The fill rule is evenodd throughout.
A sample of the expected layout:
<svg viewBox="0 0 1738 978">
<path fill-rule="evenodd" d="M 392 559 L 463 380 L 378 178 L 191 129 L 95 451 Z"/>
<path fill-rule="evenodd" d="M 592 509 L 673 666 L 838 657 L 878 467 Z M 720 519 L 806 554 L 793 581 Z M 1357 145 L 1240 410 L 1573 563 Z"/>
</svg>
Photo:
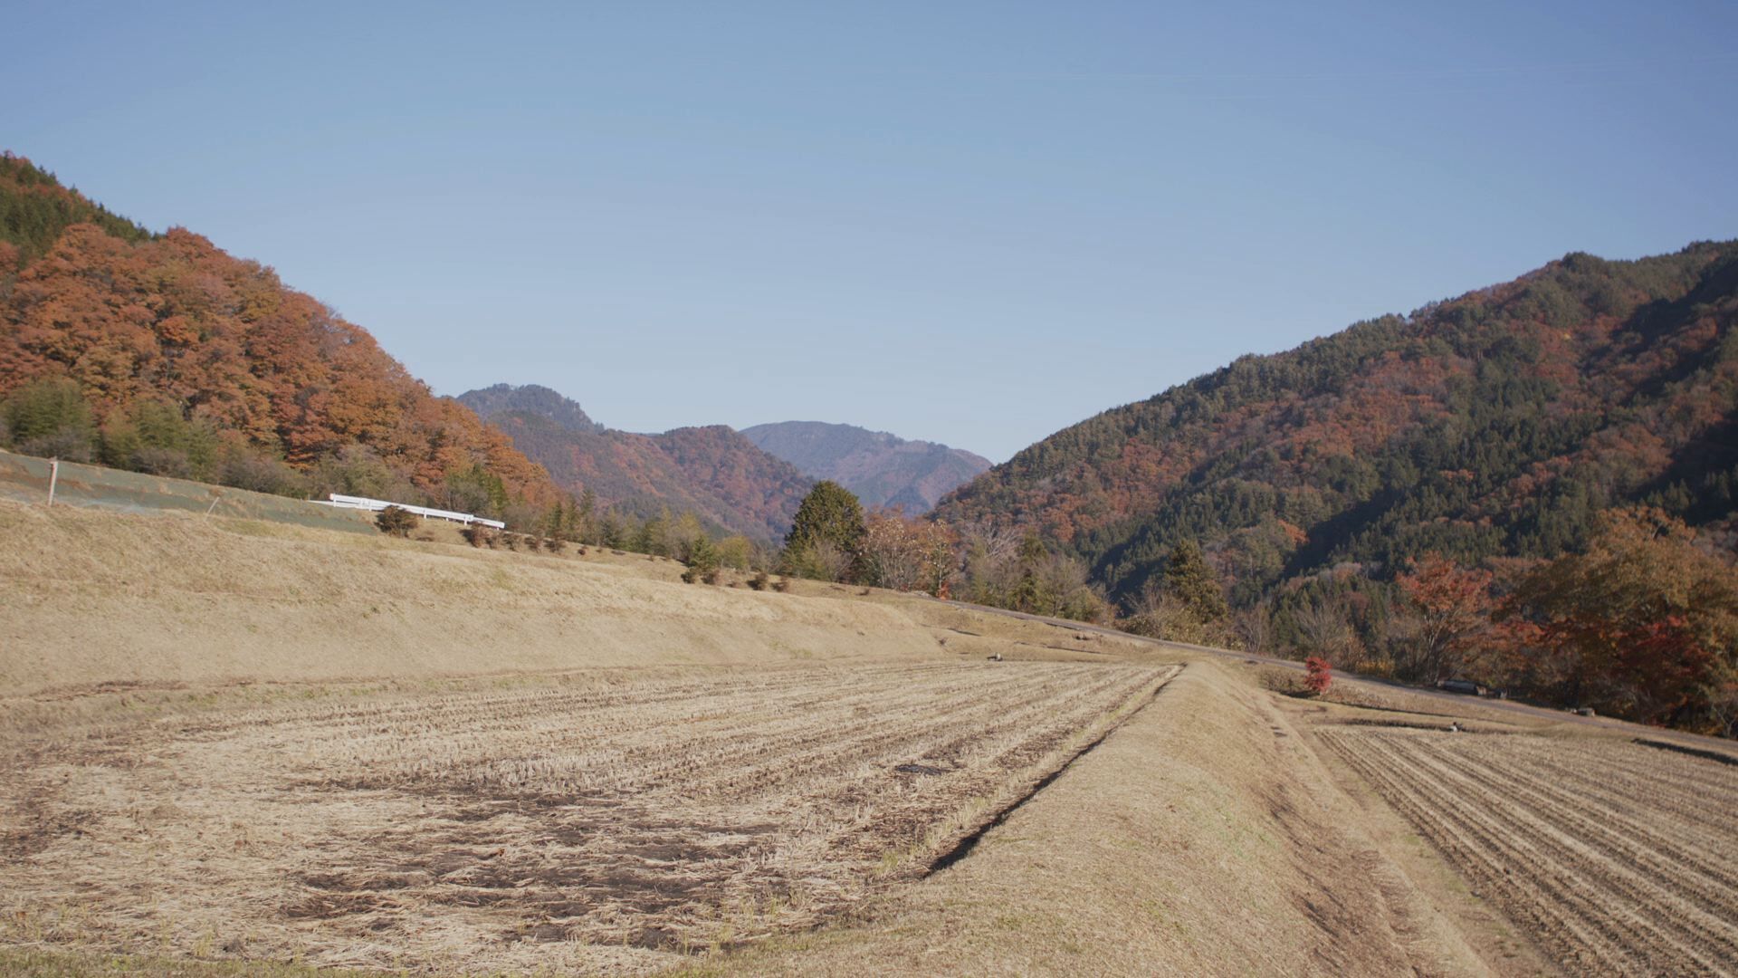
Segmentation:
<svg viewBox="0 0 1738 978">
<path fill-rule="evenodd" d="M 49 501 L 49 459 L 0 452 L 0 499 Z M 247 489 L 207 486 L 188 479 L 165 479 L 99 465 L 61 463 L 54 487 L 56 505 L 97 506 L 130 513 L 163 510 L 210 512 L 214 517 L 273 520 L 313 529 L 375 533 L 374 515 L 334 510 L 304 499 L 287 499 Z"/>
</svg>

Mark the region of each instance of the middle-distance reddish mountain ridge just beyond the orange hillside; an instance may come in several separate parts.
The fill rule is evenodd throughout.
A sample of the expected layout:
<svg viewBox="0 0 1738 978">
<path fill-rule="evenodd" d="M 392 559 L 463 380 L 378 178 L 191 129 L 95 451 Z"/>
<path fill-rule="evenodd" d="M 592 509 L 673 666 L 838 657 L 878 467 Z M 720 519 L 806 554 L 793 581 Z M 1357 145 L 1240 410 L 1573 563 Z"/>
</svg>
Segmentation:
<svg viewBox="0 0 1738 978">
<path fill-rule="evenodd" d="M 615 432 L 546 386 L 495 385 L 459 400 L 513 435 L 570 492 L 638 517 L 692 512 L 770 543 L 791 529 L 810 480 L 737 432 L 711 425 L 662 435 Z"/>
</svg>

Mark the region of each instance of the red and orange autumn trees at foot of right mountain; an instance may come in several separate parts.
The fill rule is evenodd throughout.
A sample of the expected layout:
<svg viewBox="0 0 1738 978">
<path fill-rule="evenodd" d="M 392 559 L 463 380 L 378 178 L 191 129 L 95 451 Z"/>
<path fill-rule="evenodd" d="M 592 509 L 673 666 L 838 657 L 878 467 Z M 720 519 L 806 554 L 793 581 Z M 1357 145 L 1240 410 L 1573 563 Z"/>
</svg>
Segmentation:
<svg viewBox="0 0 1738 978">
<path fill-rule="evenodd" d="M 1655 506 L 1599 513 L 1556 559 L 1342 567 L 1232 611 L 1192 541 L 1123 620 L 1197 640 L 1418 684 L 1465 679 L 1552 707 L 1738 736 L 1738 566 L 1724 539 Z"/>
</svg>

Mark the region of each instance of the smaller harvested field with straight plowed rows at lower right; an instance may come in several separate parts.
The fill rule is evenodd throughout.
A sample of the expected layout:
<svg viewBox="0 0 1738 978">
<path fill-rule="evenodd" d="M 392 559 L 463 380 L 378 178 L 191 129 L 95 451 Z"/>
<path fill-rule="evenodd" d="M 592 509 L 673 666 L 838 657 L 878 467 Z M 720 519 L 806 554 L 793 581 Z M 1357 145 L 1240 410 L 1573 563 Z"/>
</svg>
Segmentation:
<svg viewBox="0 0 1738 978">
<path fill-rule="evenodd" d="M 1571 975 L 1738 975 L 1738 769 L 1609 740 L 1321 738 Z"/>
</svg>

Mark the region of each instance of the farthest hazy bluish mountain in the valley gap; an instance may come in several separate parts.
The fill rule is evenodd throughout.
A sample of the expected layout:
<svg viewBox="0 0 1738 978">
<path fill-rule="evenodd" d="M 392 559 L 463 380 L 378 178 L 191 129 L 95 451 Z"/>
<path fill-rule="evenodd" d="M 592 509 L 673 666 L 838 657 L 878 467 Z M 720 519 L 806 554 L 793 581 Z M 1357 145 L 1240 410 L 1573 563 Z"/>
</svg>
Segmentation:
<svg viewBox="0 0 1738 978">
<path fill-rule="evenodd" d="M 754 425 L 742 433 L 810 479 L 831 479 L 866 506 L 926 513 L 956 486 L 989 468 L 989 459 L 935 442 L 907 442 L 886 432 L 822 421 Z"/>
</svg>

